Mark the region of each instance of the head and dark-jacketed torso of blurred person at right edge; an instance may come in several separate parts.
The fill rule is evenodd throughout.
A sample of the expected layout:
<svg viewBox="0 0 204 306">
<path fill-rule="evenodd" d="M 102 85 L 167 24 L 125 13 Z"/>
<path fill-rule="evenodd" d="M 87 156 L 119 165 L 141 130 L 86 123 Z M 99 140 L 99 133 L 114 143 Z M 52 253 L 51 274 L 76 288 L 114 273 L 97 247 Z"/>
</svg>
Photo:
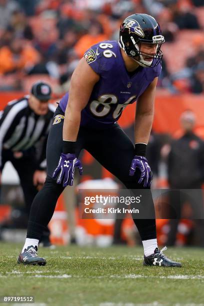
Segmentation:
<svg viewBox="0 0 204 306">
<path fill-rule="evenodd" d="M 183 135 L 171 143 L 168 155 L 168 181 L 171 188 L 200 188 L 204 178 L 203 141 L 193 132 L 195 115 L 181 114 Z"/>
</svg>

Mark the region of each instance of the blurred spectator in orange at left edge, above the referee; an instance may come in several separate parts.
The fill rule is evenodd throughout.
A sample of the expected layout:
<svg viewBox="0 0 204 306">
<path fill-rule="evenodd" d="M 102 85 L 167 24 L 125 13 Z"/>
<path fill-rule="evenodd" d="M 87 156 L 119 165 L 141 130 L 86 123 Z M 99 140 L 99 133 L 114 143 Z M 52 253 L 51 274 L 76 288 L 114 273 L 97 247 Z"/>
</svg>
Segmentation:
<svg viewBox="0 0 204 306">
<path fill-rule="evenodd" d="M 40 55 L 22 38 L 13 38 L 9 45 L 0 48 L 0 73 L 28 70 L 37 63 Z"/>
</svg>

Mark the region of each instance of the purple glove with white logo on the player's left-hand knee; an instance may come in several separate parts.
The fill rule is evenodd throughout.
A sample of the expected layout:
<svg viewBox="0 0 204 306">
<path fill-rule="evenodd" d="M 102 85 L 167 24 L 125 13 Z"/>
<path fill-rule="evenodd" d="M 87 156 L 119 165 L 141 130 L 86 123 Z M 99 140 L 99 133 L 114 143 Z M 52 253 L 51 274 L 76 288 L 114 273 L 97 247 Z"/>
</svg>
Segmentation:
<svg viewBox="0 0 204 306">
<path fill-rule="evenodd" d="M 82 175 L 82 164 L 75 154 L 61 153 L 59 163 L 52 174 L 52 178 L 57 175 L 57 184 L 60 184 L 63 179 L 63 187 L 73 185 L 74 169 L 78 168 L 79 174 Z"/>
</svg>

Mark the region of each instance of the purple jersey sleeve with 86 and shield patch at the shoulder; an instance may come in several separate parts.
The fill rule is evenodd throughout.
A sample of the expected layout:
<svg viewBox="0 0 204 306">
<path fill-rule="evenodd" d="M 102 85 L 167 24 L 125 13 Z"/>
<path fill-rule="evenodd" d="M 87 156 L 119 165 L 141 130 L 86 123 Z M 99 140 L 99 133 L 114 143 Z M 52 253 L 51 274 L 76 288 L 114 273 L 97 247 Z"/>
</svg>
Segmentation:
<svg viewBox="0 0 204 306">
<path fill-rule="evenodd" d="M 91 68 L 101 75 L 111 69 L 116 52 L 111 41 L 102 41 L 91 46 L 83 56 Z"/>
</svg>

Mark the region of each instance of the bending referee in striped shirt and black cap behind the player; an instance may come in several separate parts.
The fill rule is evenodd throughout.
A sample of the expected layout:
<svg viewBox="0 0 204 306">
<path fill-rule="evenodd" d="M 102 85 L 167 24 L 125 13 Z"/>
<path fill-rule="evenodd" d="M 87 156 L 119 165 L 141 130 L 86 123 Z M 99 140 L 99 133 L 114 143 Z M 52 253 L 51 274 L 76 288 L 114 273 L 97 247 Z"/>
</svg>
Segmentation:
<svg viewBox="0 0 204 306">
<path fill-rule="evenodd" d="M 55 111 L 50 97 L 50 86 L 37 81 L 29 95 L 8 102 L 0 111 L 0 177 L 9 160 L 19 175 L 27 214 L 46 178 L 46 140 Z M 49 233 L 47 228 L 42 234 L 43 246 L 51 245 Z"/>
</svg>

